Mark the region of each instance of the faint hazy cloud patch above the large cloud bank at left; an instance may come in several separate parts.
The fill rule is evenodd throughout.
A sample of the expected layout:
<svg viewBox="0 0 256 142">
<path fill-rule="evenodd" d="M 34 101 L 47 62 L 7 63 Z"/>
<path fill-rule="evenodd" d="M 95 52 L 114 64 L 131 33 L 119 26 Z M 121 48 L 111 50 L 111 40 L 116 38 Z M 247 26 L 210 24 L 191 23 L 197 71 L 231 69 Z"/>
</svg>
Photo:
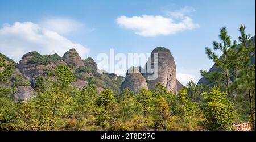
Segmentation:
<svg viewBox="0 0 256 142">
<path fill-rule="evenodd" d="M 39 22 L 39 26 L 61 35 L 67 35 L 71 32 L 80 31 L 84 24 L 71 18 L 49 17 Z"/>
</svg>

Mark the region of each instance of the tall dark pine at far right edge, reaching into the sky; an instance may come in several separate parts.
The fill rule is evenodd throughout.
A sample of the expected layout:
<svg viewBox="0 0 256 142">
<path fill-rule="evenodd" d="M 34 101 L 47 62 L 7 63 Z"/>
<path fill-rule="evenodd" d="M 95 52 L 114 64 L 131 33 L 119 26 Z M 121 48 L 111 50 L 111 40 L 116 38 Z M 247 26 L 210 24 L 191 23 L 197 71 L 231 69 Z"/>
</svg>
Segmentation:
<svg viewBox="0 0 256 142">
<path fill-rule="evenodd" d="M 251 58 L 255 57 L 255 44 L 251 44 L 250 34 L 245 33 L 245 26 L 240 27 L 241 36 L 238 37 L 241 42 L 237 50 L 236 59 L 236 80 L 233 88 L 242 98 L 246 106 L 246 113 L 250 114 L 253 130 L 255 130 L 255 64 L 251 63 Z M 246 114 L 245 114 L 246 115 Z"/>
</svg>

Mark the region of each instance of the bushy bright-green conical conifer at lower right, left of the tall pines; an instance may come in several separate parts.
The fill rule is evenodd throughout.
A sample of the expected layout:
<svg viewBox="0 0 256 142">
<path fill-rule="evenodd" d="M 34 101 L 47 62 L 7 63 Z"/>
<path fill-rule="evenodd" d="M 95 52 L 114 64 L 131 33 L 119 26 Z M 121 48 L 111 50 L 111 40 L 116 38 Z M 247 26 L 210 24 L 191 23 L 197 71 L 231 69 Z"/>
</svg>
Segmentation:
<svg viewBox="0 0 256 142">
<path fill-rule="evenodd" d="M 204 93 L 201 106 L 203 111 L 204 127 L 207 130 L 232 130 L 236 111 L 229 102 L 226 93 L 213 87 L 209 93 Z"/>
</svg>

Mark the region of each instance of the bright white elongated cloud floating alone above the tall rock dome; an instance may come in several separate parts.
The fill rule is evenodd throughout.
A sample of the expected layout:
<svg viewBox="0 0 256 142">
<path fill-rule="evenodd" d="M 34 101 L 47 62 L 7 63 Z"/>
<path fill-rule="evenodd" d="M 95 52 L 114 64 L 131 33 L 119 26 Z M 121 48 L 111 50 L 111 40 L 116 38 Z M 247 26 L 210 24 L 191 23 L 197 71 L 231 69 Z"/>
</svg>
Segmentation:
<svg viewBox="0 0 256 142">
<path fill-rule="evenodd" d="M 193 20 L 189 16 L 185 16 L 184 11 L 188 11 L 187 8 L 183 12 L 169 13 L 172 17 L 164 17 L 161 15 L 142 15 L 142 16 L 119 16 L 117 23 L 119 26 L 135 31 L 135 34 L 141 36 L 157 36 L 157 35 L 170 35 L 176 34 L 179 31 L 192 30 L 198 28 L 199 24 L 193 23 Z M 179 22 L 175 22 L 172 18 L 179 19 Z"/>
</svg>

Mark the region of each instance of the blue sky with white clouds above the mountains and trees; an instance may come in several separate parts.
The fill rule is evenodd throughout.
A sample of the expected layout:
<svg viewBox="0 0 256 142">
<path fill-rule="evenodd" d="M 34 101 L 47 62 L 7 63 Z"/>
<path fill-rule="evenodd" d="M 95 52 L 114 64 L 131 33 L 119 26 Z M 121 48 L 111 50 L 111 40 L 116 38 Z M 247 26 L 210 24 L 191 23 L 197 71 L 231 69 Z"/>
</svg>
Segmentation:
<svg viewBox="0 0 256 142">
<path fill-rule="evenodd" d="M 18 62 L 27 51 L 62 56 L 76 47 L 82 59 L 96 59 L 110 48 L 127 54 L 163 46 L 181 83 L 197 82 L 200 69 L 213 65 L 205 47 L 223 26 L 237 40 L 241 24 L 255 35 L 254 0 L 1 1 L 0 52 Z"/>
</svg>

